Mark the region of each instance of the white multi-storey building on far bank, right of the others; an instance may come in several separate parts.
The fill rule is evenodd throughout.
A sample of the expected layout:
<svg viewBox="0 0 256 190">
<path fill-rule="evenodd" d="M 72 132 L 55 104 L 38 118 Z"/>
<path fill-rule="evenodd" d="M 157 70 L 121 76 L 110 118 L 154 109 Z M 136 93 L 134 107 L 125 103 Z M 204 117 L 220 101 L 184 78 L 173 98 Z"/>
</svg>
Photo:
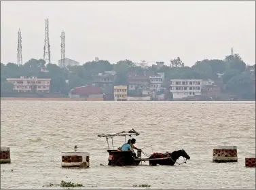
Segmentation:
<svg viewBox="0 0 256 190">
<path fill-rule="evenodd" d="M 170 92 L 173 94 L 173 99 L 202 95 L 202 79 L 172 79 Z"/>
</svg>

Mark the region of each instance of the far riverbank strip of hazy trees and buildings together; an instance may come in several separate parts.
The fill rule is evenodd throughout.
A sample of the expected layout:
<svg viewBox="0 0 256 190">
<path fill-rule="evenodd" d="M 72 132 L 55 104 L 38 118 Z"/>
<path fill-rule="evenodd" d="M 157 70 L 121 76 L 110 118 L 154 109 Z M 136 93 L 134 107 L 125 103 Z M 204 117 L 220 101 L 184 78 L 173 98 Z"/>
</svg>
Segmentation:
<svg viewBox="0 0 256 190">
<path fill-rule="evenodd" d="M 63 64 L 65 63 L 65 64 Z M 69 97 L 84 100 L 255 100 L 255 64 L 238 54 L 186 67 L 170 63 L 98 58 L 79 65 L 71 59 L 45 65 L 1 63 L 1 97 Z"/>
</svg>

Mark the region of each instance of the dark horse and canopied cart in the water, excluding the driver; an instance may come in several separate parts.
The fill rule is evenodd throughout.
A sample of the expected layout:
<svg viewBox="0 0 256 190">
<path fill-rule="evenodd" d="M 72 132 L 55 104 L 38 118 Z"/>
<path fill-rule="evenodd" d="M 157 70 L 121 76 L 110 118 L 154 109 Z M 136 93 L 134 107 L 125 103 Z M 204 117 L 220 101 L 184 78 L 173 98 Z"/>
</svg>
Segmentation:
<svg viewBox="0 0 256 190">
<path fill-rule="evenodd" d="M 133 151 L 121 151 L 120 149 L 114 149 L 114 136 L 124 136 L 126 142 L 127 136 L 131 139 L 132 136 L 139 136 L 139 133 L 132 129 L 128 132 L 122 131 L 111 134 L 98 134 L 98 137 L 105 137 L 107 140 L 109 166 L 138 166 L 141 161 L 149 161 L 149 165 L 151 166 L 156 166 L 157 164 L 173 166 L 180 156 L 185 157 L 185 159 L 190 159 L 189 155 L 187 155 L 183 149 L 179 151 L 173 151 L 172 153 L 153 153 L 152 155 L 149 155 L 148 158 L 142 158 L 141 151 L 138 151 L 137 157 L 134 157 Z M 109 148 L 109 138 L 111 138 L 112 149 Z M 183 163 L 185 163 L 185 161 Z"/>
</svg>

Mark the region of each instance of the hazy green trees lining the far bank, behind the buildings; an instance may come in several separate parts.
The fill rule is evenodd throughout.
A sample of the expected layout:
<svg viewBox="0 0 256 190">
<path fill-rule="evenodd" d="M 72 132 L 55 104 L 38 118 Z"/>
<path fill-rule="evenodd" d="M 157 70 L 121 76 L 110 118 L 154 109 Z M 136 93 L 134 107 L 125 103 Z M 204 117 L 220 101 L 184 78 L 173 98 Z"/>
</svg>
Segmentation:
<svg viewBox="0 0 256 190">
<path fill-rule="evenodd" d="M 41 72 L 41 68 L 49 72 Z M 253 73 L 251 73 L 254 69 Z M 157 69 L 149 67 L 145 60 L 132 62 L 132 60 L 120 60 L 111 64 L 108 60 L 92 60 L 83 65 L 67 67 L 61 69 L 56 64 L 47 64 L 42 59 L 31 58 L 28 62 L 18 66 L 18 64 L 8 62 L 1 63 L 1 92 L 12 92 L 12 83 L 6 81 L 7 78 L 20 76 L 50 78 L 50 92 L 68 94 L 72 88 L 77 86 L 90 85 L 95 75 L 105 71 L 115 71 L 115 85 L 126 85 L 128 73 L 135 71 L 138 74 L 144 72 L 164 73 L 166 81 L 170 79 L 218 79 L 217 73 L 223 73 L 223 86 L 227 93 L 243 99 L 255 99 L 255 64 L 246 65 L 239 54 L 225 56 L 223 60 L 200 60 L 193 66 L 187 67 L 181 58 L 170 60 L 169 65 Z M 69 83 L 66 81 L 69 80 Z"/>
</svg>

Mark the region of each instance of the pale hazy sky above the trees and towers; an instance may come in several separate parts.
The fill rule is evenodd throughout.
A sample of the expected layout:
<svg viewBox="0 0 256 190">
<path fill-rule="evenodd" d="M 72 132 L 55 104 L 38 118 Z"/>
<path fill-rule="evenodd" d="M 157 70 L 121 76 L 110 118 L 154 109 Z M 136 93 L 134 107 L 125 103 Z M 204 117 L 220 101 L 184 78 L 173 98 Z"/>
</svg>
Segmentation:
<svg viewBox="0 0 256 190">
<path fill-rule="evenodd" d="M 232 47 L 255 64 L 255 1 L 1 1 L 1 62 L 17 62 L 19 28 L 23 63 L 43 58 L 45 18 L 56 64 L 62 30 L 66 57 L 80 64 L 96 56 L 169 64 L 179 56 L 191 66 Z"/>
</svg>

